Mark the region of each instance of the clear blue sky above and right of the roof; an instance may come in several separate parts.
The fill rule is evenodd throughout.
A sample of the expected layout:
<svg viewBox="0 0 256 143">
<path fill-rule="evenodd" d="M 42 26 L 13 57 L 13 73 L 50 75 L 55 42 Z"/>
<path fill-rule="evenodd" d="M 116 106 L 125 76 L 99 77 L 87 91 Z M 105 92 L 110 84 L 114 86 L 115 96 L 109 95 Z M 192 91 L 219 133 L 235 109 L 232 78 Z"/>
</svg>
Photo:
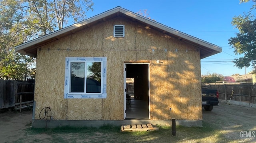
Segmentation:
<svg viewBox="0 0 256 143">
<path fill-rule="evenodd" d="M 248 12 L 253 2 L 240 4 L 239 0 L 93 0 L 90 18 L 117 6 L 132 12 L 148 10 L 151 19 L 222 47 L 222 53 L 201 60 L 201 74 L 245 74 L 252 67 L 238 69 L 231 63 L 235 55 L 228 39 L 238 32 L 231 21 L 234 16 Z"/>
</svg>

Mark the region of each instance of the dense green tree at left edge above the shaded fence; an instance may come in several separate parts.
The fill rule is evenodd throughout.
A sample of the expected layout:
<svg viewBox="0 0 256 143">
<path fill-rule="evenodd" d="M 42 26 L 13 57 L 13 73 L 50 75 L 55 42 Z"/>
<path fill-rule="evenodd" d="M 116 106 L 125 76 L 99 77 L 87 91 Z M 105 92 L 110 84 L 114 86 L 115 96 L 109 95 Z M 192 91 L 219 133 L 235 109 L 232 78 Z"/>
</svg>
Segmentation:
<svg viewBox="0 0 256 143">
<path fill-rule="evenodd" d="M 28 65 L 33 61 L 31 57 L 16 53 L 13 48 L 25 42 L 27 36 L 18 23 L 22 16 L 14 13 L 17 6 L 15 0 L 5 3 L 0 1 L 0 79 L 26 79 Z"/>
</svg>

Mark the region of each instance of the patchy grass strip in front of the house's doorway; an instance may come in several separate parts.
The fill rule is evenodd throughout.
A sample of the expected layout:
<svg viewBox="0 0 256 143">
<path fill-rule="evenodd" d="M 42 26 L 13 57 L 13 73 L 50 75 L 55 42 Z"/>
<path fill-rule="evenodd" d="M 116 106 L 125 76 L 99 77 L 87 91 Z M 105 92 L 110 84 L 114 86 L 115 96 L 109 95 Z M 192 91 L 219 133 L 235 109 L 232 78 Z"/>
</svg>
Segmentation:
<svg viewBox="0 0 256 143">
<path fill-rule="evenodd" d="M 225 138 L 221 129 L 203 122 L 203 127 L 176 127 L 176 136 L 168 126 L 158 126 L 159 131 L 120 131 L 120 126 L 105 125 L 94 127 L 57 127 L 54 129 L 28 128 L 18 143 L 227 143 L 236 142 Z M 29 138 L 29 140 L 28 140 Z"/>
</svg>

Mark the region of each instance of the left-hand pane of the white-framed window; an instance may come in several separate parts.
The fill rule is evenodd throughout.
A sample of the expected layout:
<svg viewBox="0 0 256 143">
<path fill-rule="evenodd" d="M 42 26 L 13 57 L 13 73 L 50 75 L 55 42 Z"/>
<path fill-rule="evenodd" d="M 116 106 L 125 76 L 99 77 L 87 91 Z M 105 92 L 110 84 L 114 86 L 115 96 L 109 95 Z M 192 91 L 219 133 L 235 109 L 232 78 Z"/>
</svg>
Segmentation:
<svg viewBox="0 0 256 143">
<path fill-rule="evenodd" d="M 70 63 L 70 92 L 84 92 L 85 63 Z"/>
</svg>

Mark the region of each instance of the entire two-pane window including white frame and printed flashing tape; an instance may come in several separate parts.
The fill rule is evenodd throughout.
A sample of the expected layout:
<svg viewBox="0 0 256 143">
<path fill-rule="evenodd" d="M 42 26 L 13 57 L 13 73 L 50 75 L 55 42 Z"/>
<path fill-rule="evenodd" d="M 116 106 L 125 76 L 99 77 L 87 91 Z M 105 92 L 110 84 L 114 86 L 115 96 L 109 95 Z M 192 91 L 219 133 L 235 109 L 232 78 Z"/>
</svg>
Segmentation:
<svg viewBox="0 0 256 143">
<path fill-rule="evenodd" d="M 106 98 L 106 57 L 66 57 L 64 99 Z"/>
</svg>

